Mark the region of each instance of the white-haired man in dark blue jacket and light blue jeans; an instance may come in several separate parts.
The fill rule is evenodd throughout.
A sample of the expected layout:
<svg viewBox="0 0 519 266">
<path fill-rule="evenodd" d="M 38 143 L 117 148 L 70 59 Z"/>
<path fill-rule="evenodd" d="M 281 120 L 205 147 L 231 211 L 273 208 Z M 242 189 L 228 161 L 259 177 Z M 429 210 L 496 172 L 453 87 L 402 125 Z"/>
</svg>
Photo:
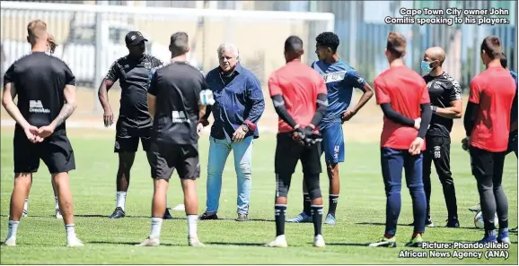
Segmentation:
<svg viewBox="0 0 519 266">
<path fill-rule="evenodd" d="M 251 199 L 252 140 L 259 137 L 257 123 L 265 101 L 258 78 L 239 62 L 239 51 L 233 44 L 218 47 L 219 66 L 207 73 L 207 85 L 216 103 L 200 118 L 198 133 L 209 124 L 213 113 L 215 122 L 209 137 L 207 163 L 207 209 L 200 219 L 218 219 L 217 211 L 222 190 L 222 173 L 231 150 L 238 177 L 238 218 L 249 219 Z"/>
</svg>

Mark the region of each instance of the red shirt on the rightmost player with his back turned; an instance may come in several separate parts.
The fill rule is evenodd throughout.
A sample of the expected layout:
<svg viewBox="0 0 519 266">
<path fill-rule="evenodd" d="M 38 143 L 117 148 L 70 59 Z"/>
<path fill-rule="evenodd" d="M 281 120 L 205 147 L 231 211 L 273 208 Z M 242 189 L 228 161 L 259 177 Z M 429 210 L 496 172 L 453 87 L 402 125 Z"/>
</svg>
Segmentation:
<svg viewBox="0 0 519 266">
<path fill-rule="evenodd" d="M 492 152 L 507 149 L 514 97 L 514 78 L 501 66 L 489 67 L 472 79 L 469 101 L 479 108 L 471 133 L 471 146 Z"/>
</svg>

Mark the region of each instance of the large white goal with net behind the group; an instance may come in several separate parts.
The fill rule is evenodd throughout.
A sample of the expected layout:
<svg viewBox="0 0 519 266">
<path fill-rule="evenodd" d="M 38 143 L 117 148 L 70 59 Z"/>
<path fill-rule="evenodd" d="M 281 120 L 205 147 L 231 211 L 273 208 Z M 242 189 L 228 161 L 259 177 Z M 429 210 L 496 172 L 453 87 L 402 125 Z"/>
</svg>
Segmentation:
<svg viewBox="0 0 519 266">
<path fill-rule="evenodd" d="M 26 27 L 35 19 L 48 23 L 59 45 L 56 56 L 69 64 L 81 86 L 92 89 L 99 87 L 111 63 L 128 54 L 124 37 L 129 30 L 141 31 L 149 40 L 148 53 L 164 61 L 170 57 L 172 33 L 185 31 L 191 42 L 189 60 L 205 72 L 218 65 L 216 48 L 232 42 L 240 49 L 242 64 L 266 84 L 268 75 L 285 64 L 288 36 L 303 39 L 303 60 L 309 63 L 316 59 L 315 37 L 333 31 L 335 22 L 332 13 L 2 2 L 5 67 L 30 50 Z M 92 100 L 95 105 L 89 112 L 99 114 L 95 94 Z"/>
</svg>

